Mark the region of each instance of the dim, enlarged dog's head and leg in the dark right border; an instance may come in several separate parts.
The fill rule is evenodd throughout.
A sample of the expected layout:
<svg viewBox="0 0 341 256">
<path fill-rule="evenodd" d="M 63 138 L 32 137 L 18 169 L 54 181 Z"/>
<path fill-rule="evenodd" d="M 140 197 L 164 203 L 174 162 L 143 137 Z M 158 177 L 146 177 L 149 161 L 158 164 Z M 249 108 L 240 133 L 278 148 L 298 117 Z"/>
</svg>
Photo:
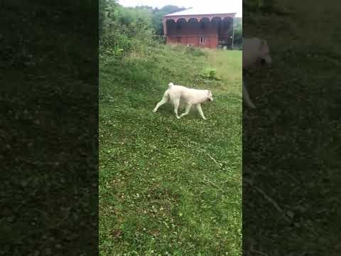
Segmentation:
<svg viewBox="0 0 341 256">
<path fill-rule="evenodd" d="M 247 70 L 258 63 L 261 65 L 272 63 L 268 43 L 259 38 L 244 38 L 243 70 Z M 247 92 L 247 86 L 244 85 L 244 80 L 243 98 L 249 107 L 255 108 L 254 103 L 251 101 L 249 93 Z"/>
</svg>

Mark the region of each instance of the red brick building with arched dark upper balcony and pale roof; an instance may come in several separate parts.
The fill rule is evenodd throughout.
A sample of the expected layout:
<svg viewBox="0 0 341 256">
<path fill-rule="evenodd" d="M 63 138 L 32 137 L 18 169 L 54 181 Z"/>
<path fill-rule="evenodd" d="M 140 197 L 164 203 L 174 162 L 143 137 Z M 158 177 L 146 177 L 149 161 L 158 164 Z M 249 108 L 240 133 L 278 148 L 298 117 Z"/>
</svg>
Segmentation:
<svg viewBox="0 0 341 256">
<path fill-rule="evenodd" d="M 235 15 L 188 9 L 163 16 L 163 31 L 168 44 L 216 48 L 231 42 Z"/>
</svg>

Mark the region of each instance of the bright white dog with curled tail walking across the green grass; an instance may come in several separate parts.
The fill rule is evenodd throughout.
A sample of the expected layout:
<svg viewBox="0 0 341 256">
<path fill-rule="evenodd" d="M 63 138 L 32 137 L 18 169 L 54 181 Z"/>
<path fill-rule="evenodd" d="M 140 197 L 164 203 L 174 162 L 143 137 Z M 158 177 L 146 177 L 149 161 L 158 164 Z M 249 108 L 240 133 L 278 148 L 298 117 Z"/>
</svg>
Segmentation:
<svg viewBox="0 0 341 256">
<path fill-rule="evenodd" d="M 180 100 L 181 102 L 187 103 L 187 107 L 185 112 L 183 112 L 183 114 L 180 114 L 179 117 L 178 107 L 180 105 Z M 176 114 L 176 117 L 180 119 L 181 117 L 188 114 L 190 112 L 190 109 L 194 105 L 202 119 L 206 119 L 201 109 L 201 103 L 212 101 L 213 97 L 212 92 L 210 90 L 196 90 L 180 85 L 173 85 L 173 82 L 170 82 L 168 84 L 168 90 L 166 90 L 166 92 L 163 94 L 161 102 L 158 102 L 153 112 L 156 112 L 161 105 L 167 102 L 171 102 L 174 106 L 174 112 Z"/>
</svg>

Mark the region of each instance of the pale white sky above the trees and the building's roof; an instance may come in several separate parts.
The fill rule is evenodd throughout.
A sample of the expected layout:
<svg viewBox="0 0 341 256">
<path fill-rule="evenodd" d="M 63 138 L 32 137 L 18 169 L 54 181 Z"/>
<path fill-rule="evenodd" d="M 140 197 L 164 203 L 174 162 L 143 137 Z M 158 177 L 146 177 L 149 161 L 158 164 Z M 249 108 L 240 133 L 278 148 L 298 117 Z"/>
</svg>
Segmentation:
<svg viewBox="0 0 341 256">
<path fill-rule="evenodd" d="M 237 17 L 242 17 L 242 0 L 119 0 L 122 6 L 147 5 L 159 9 L 165 5 L 175 5 L 179 7 L 196 7 L 199 9 L 222 10 L 222 12 L 237 12 Z"/>
</svg>

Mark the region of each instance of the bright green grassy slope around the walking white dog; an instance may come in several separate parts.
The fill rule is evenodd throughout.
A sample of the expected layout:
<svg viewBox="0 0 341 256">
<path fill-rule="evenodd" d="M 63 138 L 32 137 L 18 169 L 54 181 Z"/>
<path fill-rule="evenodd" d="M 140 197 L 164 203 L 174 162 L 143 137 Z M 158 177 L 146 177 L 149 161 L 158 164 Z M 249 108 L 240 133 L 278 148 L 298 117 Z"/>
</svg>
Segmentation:
<svg viewBox="0 0 341 256">
<path fill-rule="evenodd" d="M 99 72 L 100 255 L 242 255 L 242 52 L 164 46 Z M 168 82 L 212 90 L 207 120 L 153 113 Z"/>
</svg>

